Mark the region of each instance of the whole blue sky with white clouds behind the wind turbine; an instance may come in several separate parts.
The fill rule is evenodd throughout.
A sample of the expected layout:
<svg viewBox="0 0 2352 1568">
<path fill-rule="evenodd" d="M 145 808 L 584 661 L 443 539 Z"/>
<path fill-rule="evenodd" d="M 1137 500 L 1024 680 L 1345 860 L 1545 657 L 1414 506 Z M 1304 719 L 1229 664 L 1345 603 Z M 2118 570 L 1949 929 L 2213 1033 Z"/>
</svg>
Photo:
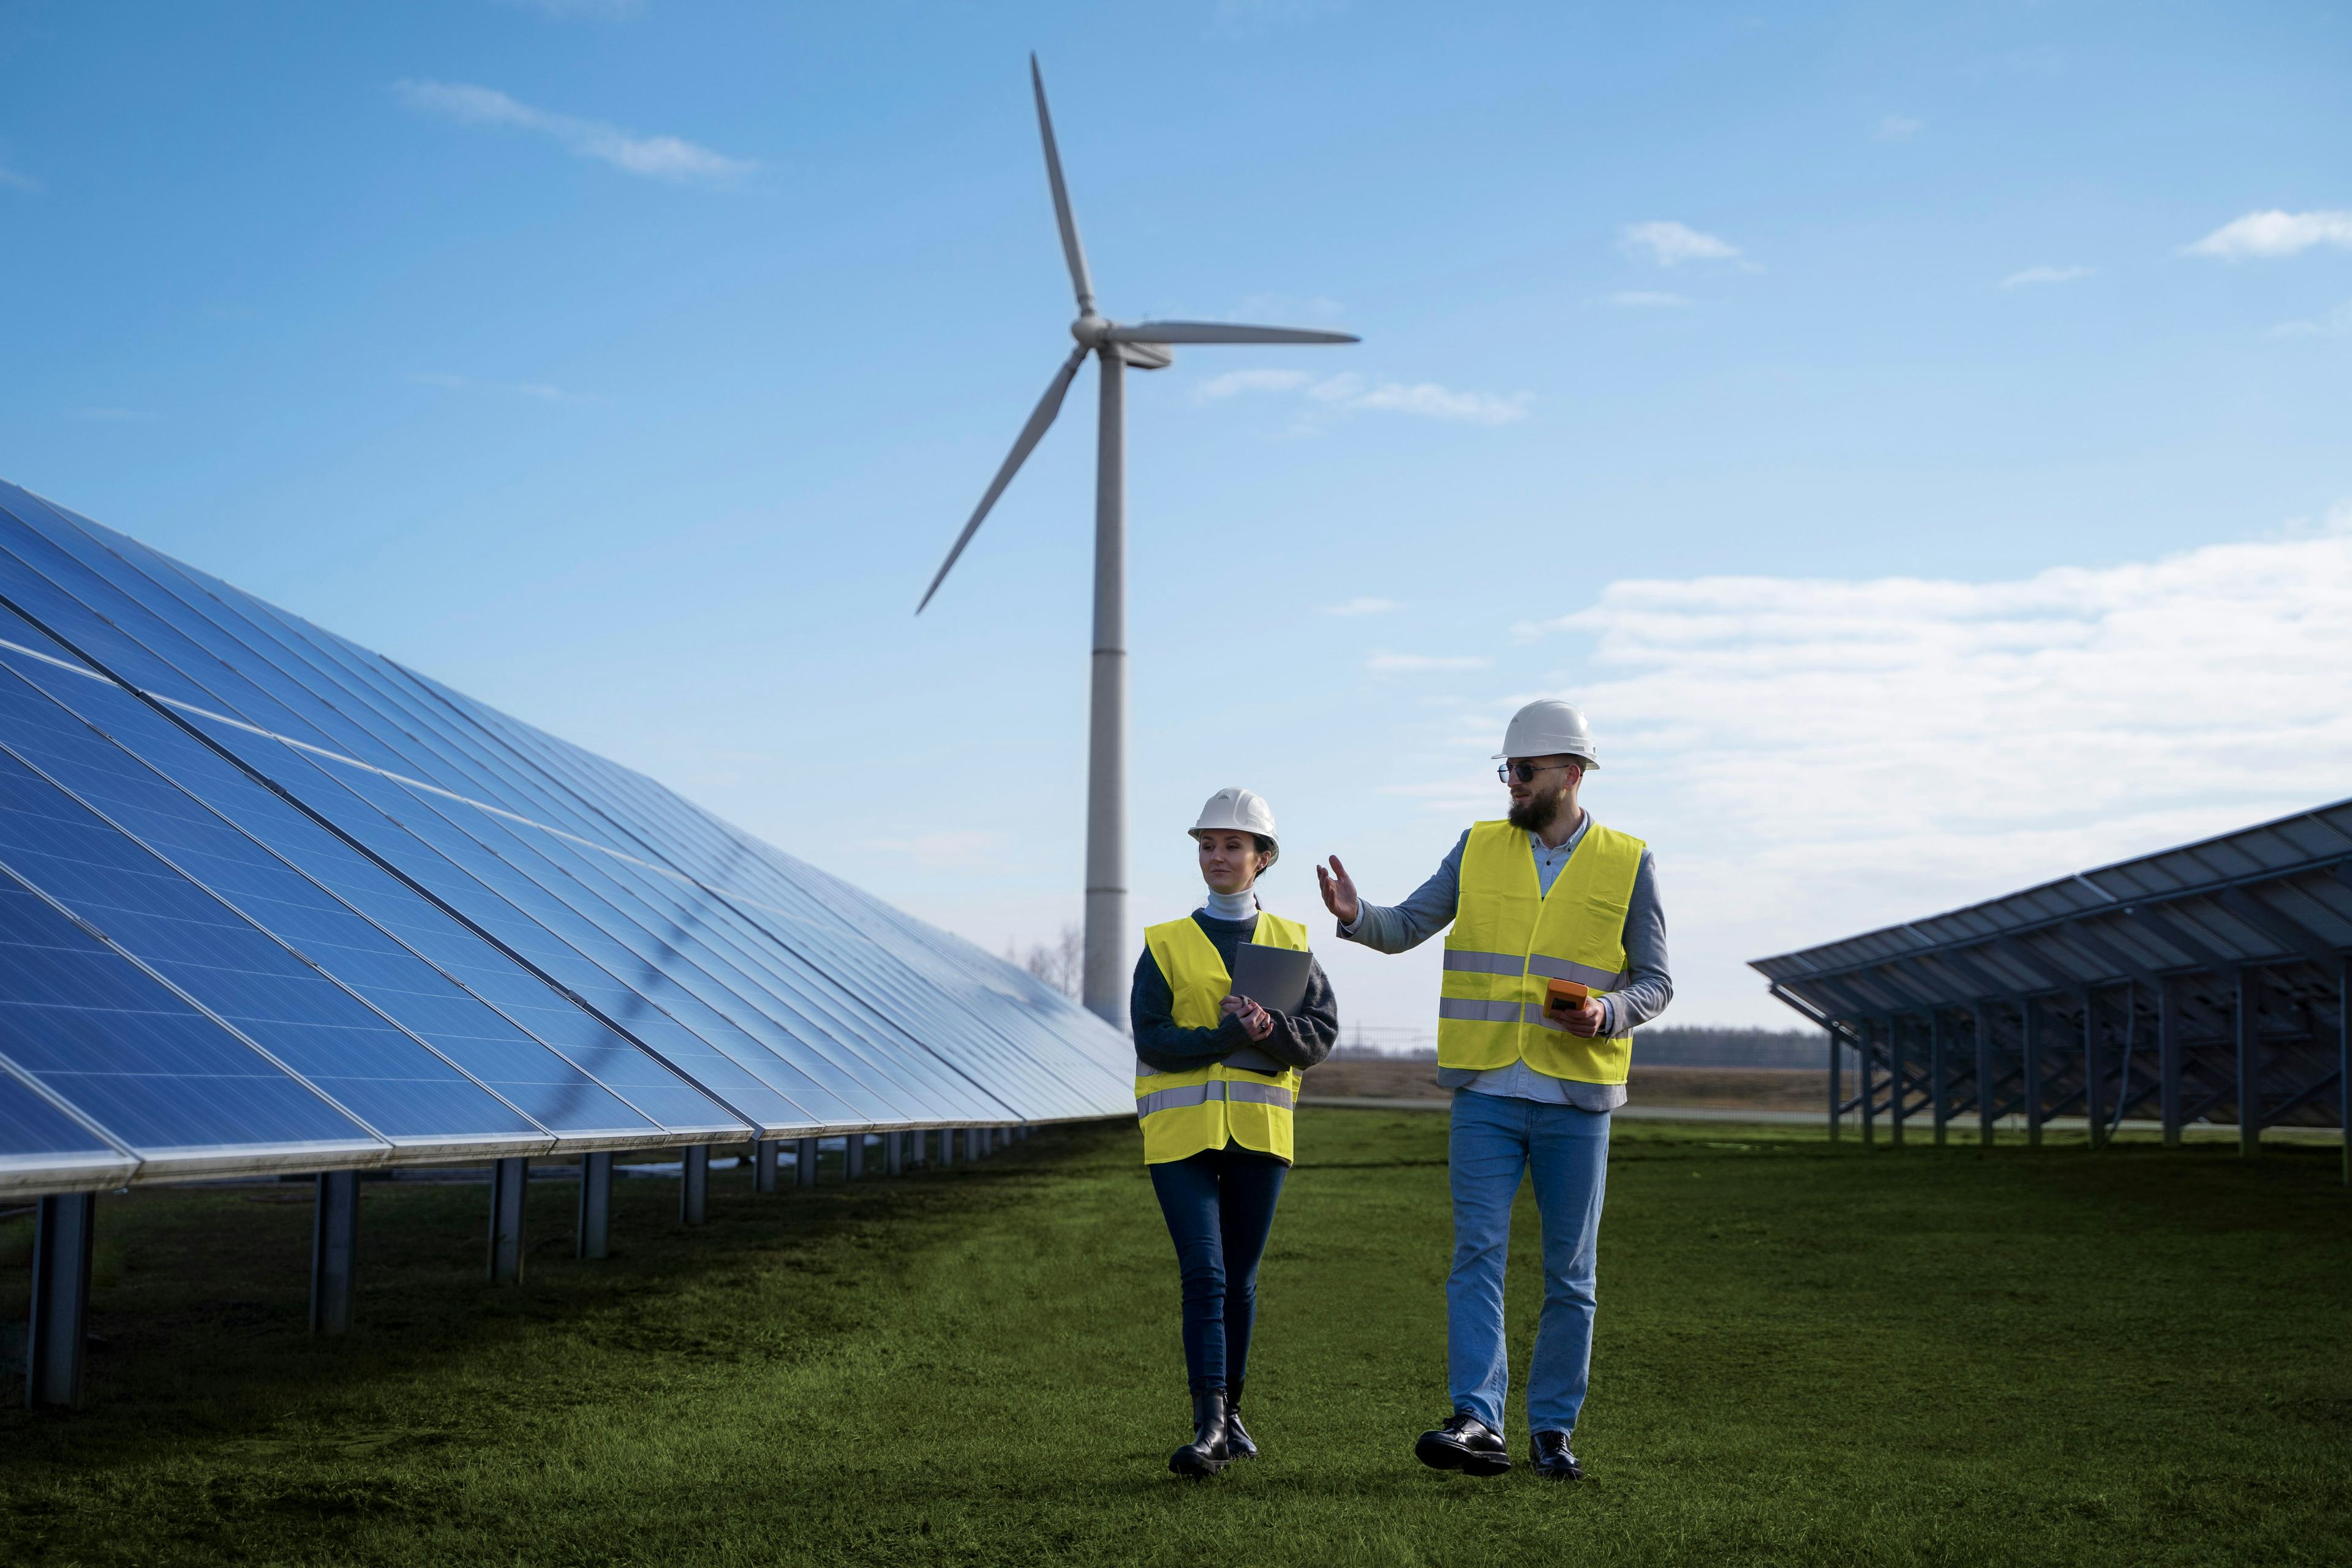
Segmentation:
<svg viewBox="0 0 2352 1568">
<path fill-rule="evenodd" d="M 1077 917 L 1105 313 L 1136 919 L 1265 792 L 1402 896 L 1590 708 L 1740 961 L 2336 799 L 2319 5 L 0 5 L 0 473 L 1002 947 Z M 1336 614 L 1343 611 L 1343 614 Z M 1435 954 L 1331 954 L 1376 1037 Z"/>
</svg>

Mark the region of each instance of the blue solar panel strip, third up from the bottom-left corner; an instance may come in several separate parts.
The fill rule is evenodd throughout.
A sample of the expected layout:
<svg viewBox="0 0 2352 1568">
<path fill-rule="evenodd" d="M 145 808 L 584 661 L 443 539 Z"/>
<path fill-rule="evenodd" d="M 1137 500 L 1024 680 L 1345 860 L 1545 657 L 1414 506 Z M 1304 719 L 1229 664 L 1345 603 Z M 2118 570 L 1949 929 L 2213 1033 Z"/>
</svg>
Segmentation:
<svg viewBox="0 0 2352 1568">
<path fill-rule="evenodd" d="M 5 752 L 0 863 L 386 1138 L 539 1131 Z"/>
</svg>

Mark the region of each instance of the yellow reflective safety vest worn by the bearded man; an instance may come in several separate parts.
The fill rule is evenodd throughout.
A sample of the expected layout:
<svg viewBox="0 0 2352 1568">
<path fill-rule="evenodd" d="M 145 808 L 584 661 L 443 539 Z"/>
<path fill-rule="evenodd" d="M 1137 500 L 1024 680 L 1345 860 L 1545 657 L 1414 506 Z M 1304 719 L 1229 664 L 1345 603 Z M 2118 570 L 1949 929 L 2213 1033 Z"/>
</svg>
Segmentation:
<svg viewBox="0 0 2352 1568">
<path fill-rule="evenodd" d="M 1545 1018 L 1545 980 L 1592 994 L 1623 990 L 1625 905 L 1642 870 L 1642 839 L 1592 823 L 1543 893 L 1526 830 L 1472 823 L 1437 992 L 1437 1065 L 1510 1067 L 1555 1079 L 1623 1084 L 1632 1034 L 1569 1034 Z"/>
</svg>

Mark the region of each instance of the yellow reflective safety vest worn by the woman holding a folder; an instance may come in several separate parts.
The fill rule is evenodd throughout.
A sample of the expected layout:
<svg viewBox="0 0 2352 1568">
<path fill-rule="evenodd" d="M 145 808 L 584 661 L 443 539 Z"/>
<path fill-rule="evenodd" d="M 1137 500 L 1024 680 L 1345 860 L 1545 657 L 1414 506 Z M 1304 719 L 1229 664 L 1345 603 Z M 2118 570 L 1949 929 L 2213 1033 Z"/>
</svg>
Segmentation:
<svg viewBox="0 0 2352 1568">
<path fill-rule="evenodd" d="M 1308 929 L 1258 910 L 1251 933 L 1263 947 L 1305 952 Z M 1176 994 L 1171 1016 L 1185 1030 L 1214 1030 L 1218 1006 L 1232 990 L 1225 959 L 1192 917 L 1150 926 L 1143 933 L 1152 961 Z M 1188 1159 L 1202 1150 L 1223 1150 L 1225 1140 L 1258 1154 L 1291 1157 L 1291 1107 L 1298 1103 L 1298 1072 L 1251 1072 L 1211 1063 L 1192 1072 L 1152 1072 L 1136 1060 L 1136 1119 L 1143 1124 L 1143 1164 L 1157 1166 Z"/>
</svg>

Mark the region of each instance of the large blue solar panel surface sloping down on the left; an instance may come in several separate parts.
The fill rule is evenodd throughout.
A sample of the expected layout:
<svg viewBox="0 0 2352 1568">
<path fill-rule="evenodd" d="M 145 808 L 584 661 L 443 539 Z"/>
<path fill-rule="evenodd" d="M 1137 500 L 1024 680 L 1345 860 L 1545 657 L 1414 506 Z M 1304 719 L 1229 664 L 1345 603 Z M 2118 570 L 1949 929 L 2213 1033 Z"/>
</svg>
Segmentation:
<svg viewBox="0 0 2352 1568">
<path fill-rule="evenodd" d="M 0 484 L 0 1187 L 1134 1114 L 1127 1039 Z"/>
</svg>

